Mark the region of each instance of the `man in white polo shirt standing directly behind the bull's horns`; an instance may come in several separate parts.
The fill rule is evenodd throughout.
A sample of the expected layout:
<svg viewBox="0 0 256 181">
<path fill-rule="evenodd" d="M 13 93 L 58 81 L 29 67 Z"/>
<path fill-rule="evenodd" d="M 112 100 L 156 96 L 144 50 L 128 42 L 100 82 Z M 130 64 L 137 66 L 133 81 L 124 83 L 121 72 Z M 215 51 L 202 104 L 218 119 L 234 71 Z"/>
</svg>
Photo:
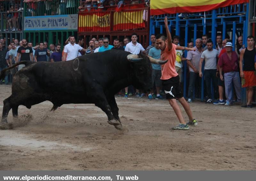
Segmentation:
<svg viewBox="0 0 256 181">
<path fill-rule="evenodd" d="M 140 51 L 144 54 L 146 54 L 146 50 L 142 47 L 142 45 L 140 43 L 137 42 L 138 37 L 136 33 L 132 34 L 132 41 L 130 43 L 127 43 L 127 45 L 125 46 L 124 51 L 129 51 L 130 53 L 134 54 L 134 55 L 138 55 L 140 54 Z M 124 98 L 128 98 L 128 87 L 124 88 L 125 90 L 125 94 L 124 94 Z M 136 97 L 142 97 L 141 94 L 139 93 L 139 90 L 136 89 Z"/>
</svg>

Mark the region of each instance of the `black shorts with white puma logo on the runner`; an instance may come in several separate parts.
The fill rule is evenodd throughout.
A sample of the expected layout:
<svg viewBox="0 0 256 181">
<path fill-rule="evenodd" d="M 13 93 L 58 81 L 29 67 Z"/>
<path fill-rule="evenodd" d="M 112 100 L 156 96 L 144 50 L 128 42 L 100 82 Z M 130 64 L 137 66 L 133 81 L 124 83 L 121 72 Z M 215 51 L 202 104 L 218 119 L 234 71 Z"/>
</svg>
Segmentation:
<svg viewBox="0 0 256 181">
<path fill-rule="evenodd" d="M 172 77 L 167 80 L 162 80 L 163 88 L 166 95 L 166 99 L 176 99 L 183 97 L 180 87 L 180 77 Z"/>
</svg>

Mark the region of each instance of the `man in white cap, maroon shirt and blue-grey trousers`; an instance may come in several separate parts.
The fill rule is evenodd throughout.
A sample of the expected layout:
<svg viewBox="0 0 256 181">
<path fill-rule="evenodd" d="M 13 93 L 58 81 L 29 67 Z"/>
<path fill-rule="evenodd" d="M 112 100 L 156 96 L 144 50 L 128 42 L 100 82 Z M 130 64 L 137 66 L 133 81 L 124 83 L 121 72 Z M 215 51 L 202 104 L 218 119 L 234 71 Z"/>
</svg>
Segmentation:
<svg viewBox="0 0 256 181">
<path fill-rule="evenodd" d="M 223 80 L 222 71 L 224 72 L 226 104 L 229 106 L 232 104 L 232 90 L 233 86 L 236 90 L 237 101 L 241 101 L 241 86 L 240 77 L 238 72 L 238 57 L 235 51 L 232 51 L 233 45 L 231 42 L 227 42 L 225 49 L 226 52 L 220 56 L 218 66 L 220 67 L 220 79 Z"/>
</svg>

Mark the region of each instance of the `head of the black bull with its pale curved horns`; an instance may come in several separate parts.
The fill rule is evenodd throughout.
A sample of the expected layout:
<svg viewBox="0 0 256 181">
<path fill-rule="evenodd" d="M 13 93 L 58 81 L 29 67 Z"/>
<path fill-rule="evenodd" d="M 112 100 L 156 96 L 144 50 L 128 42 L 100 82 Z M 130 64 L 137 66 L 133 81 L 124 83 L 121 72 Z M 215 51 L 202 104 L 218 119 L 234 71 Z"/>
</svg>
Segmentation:
<svg viewBox="0 0 256 181">
<path fill-rule="evenodd" d="M 152 74 L 152 66 L 153 64 L 165 64 L 166 61 L 157 60 L 152 57 L 147 57 L 145 55 L 133 55 L 129 54 L 127 56 L 127 60 L 133 62 L 133 77 L 132 77 L 132 85 L 137 89 L 142 89 L 143 91 L 149 91 L 152 87 L 151 85 L 151 74 Z"/>
</svg>

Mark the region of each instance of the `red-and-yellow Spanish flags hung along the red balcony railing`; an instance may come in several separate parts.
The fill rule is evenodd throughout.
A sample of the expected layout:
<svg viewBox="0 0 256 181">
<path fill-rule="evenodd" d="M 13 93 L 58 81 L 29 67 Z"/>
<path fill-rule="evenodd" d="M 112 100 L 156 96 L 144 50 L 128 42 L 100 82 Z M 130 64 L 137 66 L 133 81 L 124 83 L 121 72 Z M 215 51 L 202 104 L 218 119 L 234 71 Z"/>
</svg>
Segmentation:
<svg viewBox="0 0 256 181">
<path fill-rule="evenodd" d="M 81 12 L 79 13 L 78 31 L 117 31 L 144 28 L 146 16 L 143 8 L 144 6 L 134 5 L 132 7 L 124 6 L 121 11 Z M 113 21 L 111 21 L 111 15 Z"/>
</svg>

